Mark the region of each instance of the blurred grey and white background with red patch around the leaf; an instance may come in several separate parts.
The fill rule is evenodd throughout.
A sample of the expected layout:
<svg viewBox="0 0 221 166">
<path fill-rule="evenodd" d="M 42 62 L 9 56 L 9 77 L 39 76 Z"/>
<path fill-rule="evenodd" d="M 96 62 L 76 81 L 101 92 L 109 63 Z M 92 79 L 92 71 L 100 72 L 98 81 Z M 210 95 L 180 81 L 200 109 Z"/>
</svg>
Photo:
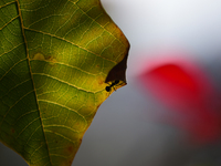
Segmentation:
<svg viewBox="0 0 221 166">
<path fill-rule="evenodd" d="M 102 104 L 73 165 L 220 166 L 221 1 L 102 3 L 130 42 L 127 85 Z"/>
</svg>

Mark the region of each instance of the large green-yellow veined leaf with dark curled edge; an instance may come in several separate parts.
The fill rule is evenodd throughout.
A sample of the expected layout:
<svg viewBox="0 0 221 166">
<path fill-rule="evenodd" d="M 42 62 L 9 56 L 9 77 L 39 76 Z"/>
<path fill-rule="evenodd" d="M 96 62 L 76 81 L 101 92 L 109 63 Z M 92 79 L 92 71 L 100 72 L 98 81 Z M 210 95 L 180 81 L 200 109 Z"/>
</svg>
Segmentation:
<svg viewBox="0 0 221 166">
<path fill-rule="evenodd" d="M 0 141 L 31 166 L 71 165 L 107 81 L 125 84 L 128 41 L 99 0 L 0 0 Z"/>
</svg>

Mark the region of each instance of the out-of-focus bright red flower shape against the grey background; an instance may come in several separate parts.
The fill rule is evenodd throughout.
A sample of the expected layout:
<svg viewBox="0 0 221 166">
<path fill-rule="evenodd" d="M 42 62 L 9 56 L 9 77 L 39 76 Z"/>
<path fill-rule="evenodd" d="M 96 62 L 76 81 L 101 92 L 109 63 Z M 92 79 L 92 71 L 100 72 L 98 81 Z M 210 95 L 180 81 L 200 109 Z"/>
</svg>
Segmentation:
<svg viewBox="0 0 221 166">
<path fill-rule="evenodd" d="M 151 64 L 148 61 L 148 64 Z M 210 143 L 220 137 L 219 95 L 206 72 L 193 61 L 154 63 L 139 75 L 139 81 L 171 114 L 164 117 L 188 132 L 197 143 Z"/>
</svg>

